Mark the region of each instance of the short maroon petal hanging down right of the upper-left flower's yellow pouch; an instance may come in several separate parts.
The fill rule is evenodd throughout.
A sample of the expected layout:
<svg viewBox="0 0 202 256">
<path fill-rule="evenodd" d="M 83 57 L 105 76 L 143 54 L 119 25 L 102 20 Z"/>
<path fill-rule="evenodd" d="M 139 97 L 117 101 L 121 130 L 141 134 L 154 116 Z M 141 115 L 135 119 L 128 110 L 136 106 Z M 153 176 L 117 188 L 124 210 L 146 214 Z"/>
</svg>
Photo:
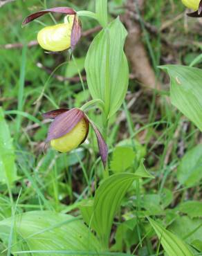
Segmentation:
<svg viewBox="0 0 202 256">
<path fill-rule="evenodd" d="M 79 17 L 75 15 L 75 18 L 73 20 L 73 27 L 71 31 L 71 49 L 72 50 L 75 48 L 75 45 L 77 44 L 77 42 L 79 42 L 81 36 L 82 36 L 82 24 Z"/>
</svg>

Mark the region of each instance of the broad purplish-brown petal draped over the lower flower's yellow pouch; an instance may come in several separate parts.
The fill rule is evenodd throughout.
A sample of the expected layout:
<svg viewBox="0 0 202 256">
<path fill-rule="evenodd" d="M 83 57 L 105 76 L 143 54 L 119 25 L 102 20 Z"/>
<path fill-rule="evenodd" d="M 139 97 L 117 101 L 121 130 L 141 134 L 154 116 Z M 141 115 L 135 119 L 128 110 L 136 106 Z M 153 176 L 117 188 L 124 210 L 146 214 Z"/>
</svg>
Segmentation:
<svg viewBox="0 0 202 256">
<path fill-rule="evenodd" d="M 56 116 L 48 129 L 46 142 L 68 134 L 82 118 L 84 118 L 84 112 L 80 109 L 71 109 Z"/>
</svg>

